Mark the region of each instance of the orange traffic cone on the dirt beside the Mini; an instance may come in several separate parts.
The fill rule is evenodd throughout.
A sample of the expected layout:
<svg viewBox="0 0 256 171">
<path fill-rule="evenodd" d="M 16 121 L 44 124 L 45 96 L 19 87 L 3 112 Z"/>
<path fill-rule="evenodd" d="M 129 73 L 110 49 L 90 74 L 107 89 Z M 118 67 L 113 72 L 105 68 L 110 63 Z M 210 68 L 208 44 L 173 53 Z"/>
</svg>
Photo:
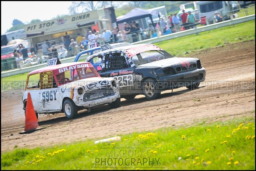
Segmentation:
<svg viewBox="0 0 256 171">
<path fill-rule="evenodd" d="M 45 127 L 43 127 L 45 128 Z M 25 131 L 20 132 L 20 134 L 24 134 L 27 132 L 40 130 L 43 128 L 38 127 L 38 120 L 36 118 L 36 112 L 32 103 L 32 99 L 30 96 L 30 93 L 28 92 L 28 98 L 27 98 L 27 106 L 26 106 L 26 120 L 25 120 Z"/>
</svg>

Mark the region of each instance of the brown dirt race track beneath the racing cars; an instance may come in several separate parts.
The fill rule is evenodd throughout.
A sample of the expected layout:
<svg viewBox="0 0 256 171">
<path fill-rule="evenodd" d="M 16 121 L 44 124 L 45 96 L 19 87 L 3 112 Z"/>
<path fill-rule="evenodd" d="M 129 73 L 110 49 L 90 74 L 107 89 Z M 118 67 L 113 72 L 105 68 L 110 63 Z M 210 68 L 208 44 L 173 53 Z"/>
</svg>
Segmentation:
<svg viewBox="0 0 256 171">
<path fill-rule="evenodd" d="M 130 101 L 122 99 L 119 108 L 109 110 L 105 105 L 98 111 L 80 112 L 73 120 L 67 120 L 64 113 L 39 115 L 39 125 L 46 128 L 30 134 L 19 134 L 25 121 L 22 92 L 1 93 L 1 151 L 12 150 L 15 145 L 33 148 L 191 125 L 203 119 L 211 122 L 234 117 L 255 118 L 255 41 L 212 48 L 193 56 L 206 69 L 206 80 L 199 89 L 167 90 L 159 99 L 151 101 L 142 95 Z"/>
</svg>

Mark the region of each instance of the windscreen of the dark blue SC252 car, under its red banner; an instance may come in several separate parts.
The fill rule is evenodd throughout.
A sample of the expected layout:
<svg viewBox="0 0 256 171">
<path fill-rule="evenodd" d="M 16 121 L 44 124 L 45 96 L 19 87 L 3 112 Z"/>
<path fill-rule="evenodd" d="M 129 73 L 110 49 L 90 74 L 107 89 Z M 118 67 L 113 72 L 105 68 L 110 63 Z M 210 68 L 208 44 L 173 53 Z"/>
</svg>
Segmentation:
<svg viewBox="0 0 256 171">
<path fill-rule="evenodd" d="M 166 51 L 145 51 L 132 56 L 132 62 L 136 66 L 143 64 L 155 62 L 158 60 L 163 60 L 167 58 L 172 58 L 173 56 Z"/>
</svg>

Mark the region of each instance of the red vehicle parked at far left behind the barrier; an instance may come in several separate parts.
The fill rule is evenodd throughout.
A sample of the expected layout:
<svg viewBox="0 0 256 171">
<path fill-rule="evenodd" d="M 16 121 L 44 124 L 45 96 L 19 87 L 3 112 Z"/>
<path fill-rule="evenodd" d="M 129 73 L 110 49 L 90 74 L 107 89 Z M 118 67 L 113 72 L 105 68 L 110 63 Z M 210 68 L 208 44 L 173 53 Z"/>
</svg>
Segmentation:
<svg viewBox="0 0 256 171">
<path fill-rule="evenodd" d="M 14 44 L 10 44 L 10 45 L 6 45 L 6 46 L 1 46 L 1 59 L 6 59 L 6 58 L 10 58 L 13 57 L 14 54 L 14 50 L 19 47 L 19 45 L 24 46 L 25 48 L 28 48 L 28 45 L 26 43 L 26 41 L 21 41 L 21 42 L 17 42 Z"/>
</svg>

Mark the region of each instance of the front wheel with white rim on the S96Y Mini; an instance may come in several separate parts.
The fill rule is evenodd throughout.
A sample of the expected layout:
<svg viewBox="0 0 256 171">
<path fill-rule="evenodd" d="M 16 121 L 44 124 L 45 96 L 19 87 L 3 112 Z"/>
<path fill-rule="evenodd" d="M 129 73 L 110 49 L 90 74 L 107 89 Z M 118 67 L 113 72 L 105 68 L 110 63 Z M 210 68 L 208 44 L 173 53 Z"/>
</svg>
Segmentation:
<svg viewBox="0 0 256 171">
<path fill-rule="evenodd" d="M 66 99 L 64 101 L 63 109 L 68 119 L 72 119 L 77 116 L 77 106 L 71 99 Z"/>
</svg>

